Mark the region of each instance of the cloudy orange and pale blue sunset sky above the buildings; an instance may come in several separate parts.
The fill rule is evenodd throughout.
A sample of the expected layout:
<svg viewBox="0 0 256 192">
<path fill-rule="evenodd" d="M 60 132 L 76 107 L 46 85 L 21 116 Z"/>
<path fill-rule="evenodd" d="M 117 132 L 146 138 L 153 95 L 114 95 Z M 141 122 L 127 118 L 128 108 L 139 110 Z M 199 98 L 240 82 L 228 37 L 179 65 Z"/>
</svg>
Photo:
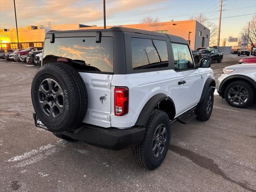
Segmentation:
<svg viewBox="0 0 256 192">
<path fill-rule="evenodd" d="M 16 0 L 18 27 L 28 25 L 103 25 L 102 0 Z M 136 24 L 145 16 L 161 22 L 188 20 L 204 13 L 218 24 L 219 0 L 106 0 L 106 24 Z M 237 37 L 241 28 L 256 14 L 256 0 L 225 0 L 221 39 Z M 245 15 L 251 14 L 251 15 Z M 239 16 L 245 15 L 245 16 Z M 239 16 L 239 17 L 232 17 Z M 232 18 L 226 18 L 232 17 Z M 0 28 L 14 28 L 13 0 L 0 0 Z"/>
</svg>

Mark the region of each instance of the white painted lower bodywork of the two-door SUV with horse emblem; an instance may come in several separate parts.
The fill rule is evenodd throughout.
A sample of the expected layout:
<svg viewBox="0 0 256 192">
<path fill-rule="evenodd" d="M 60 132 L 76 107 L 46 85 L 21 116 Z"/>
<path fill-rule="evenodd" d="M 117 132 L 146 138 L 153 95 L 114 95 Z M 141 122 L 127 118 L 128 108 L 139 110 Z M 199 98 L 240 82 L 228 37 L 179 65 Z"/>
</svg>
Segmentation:
<svg viewBox="0 0 256 192">
<path fill-rule="evenodd" d="M 210 68 L 176 72 L 161 70 L 123 75 L 108 75 L 80 72 L 88 92 L 88 110 L 84 123 L 105 128 L 130 128 L 135 125 L 145 104 L 156 94 L 166 94 L 176 107 L 176 116 L 196 106 L 206 80 L 213 77 Z M 156 81 L 157 80 L 157 81 Z M 186 80 L 178 85 L 178 81 Z M 114 88 L 128 87 L 129 109 L 124 116 L 114 115 Z M 106 96 L 103 103 L 101 96 Z"/>
</svg>

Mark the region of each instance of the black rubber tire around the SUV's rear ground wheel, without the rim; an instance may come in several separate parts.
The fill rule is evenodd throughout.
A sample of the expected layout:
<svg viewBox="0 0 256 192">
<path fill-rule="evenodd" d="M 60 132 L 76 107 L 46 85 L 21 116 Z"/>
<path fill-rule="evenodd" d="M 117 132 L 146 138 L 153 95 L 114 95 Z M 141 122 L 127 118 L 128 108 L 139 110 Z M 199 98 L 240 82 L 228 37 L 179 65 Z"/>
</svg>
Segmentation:
<svg viewBox="0 0 256 192">
<path fill-rule="evenodd" d="M 159 154 L 158 157 L 155 157 L 152 152 L 152 146 L 154 144 L 153 138 L 160 124 L 164 124 L 166 128 L 166 142 L 164 143 L 165 147 L 162 151 L 162 154 Z M 162 138 L 164 138 L 164 136 L 162 136 Z M 148 170 L 154 170 L 155 168 L 160 166 L 168 152 L 170 138 L 171 127 L 168 115 L 164 111 L 153 110 L 148 120 L 148 123 L 146 124 L 146 131 L 142 143 L 132 148 L 136 164 Z"/>
</svg>

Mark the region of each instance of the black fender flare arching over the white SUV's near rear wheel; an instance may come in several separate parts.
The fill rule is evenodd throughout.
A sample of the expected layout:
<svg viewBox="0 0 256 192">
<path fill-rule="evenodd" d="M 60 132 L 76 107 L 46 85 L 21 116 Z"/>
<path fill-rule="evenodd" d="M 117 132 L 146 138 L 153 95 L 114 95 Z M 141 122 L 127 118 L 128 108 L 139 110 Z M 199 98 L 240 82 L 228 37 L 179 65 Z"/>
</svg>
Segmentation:
<svg viewBox="0 0 256 192">
<path fill-rule="evenodd" d="M 172 104 L 174 106 L 174 112 L 176 113 L 174 102 L 169 96 L 167 96 L 166 94 L 162 94 L 162 93 L 156 94 L 155 96 L 150 98 L 150 100 L 148 100 L 148 102 L 145 104 L 142 111 L 140 112 L 140 115 L 139 115 L 135 125 L 136 126 L 144 126 L 145 124 L 147 124 L 152 110 L 163 100 L 170 100 L 170 102 L 172 102 Z M 175 113 L 174 113 L 174 116 L 175 116 Z M 174 116 L 173 116 L 173 118 L 174 118 Z"/>
</svg>

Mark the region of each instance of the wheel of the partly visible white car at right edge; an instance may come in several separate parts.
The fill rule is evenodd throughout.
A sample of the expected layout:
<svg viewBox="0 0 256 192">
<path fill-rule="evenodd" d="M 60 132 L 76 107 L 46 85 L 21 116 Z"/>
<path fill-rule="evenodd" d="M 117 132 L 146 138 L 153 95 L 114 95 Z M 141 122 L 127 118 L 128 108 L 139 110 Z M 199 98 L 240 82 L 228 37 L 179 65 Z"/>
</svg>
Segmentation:
<svg viewBox="0 0 256 192">
<path fill-rule="evenodd" d="M 237 108 L 250 106 L 254 101 L 254 95 L 252 86 L 244 81 L 234 81 L 224 90 L 226 102 Z"/>
</svg>

